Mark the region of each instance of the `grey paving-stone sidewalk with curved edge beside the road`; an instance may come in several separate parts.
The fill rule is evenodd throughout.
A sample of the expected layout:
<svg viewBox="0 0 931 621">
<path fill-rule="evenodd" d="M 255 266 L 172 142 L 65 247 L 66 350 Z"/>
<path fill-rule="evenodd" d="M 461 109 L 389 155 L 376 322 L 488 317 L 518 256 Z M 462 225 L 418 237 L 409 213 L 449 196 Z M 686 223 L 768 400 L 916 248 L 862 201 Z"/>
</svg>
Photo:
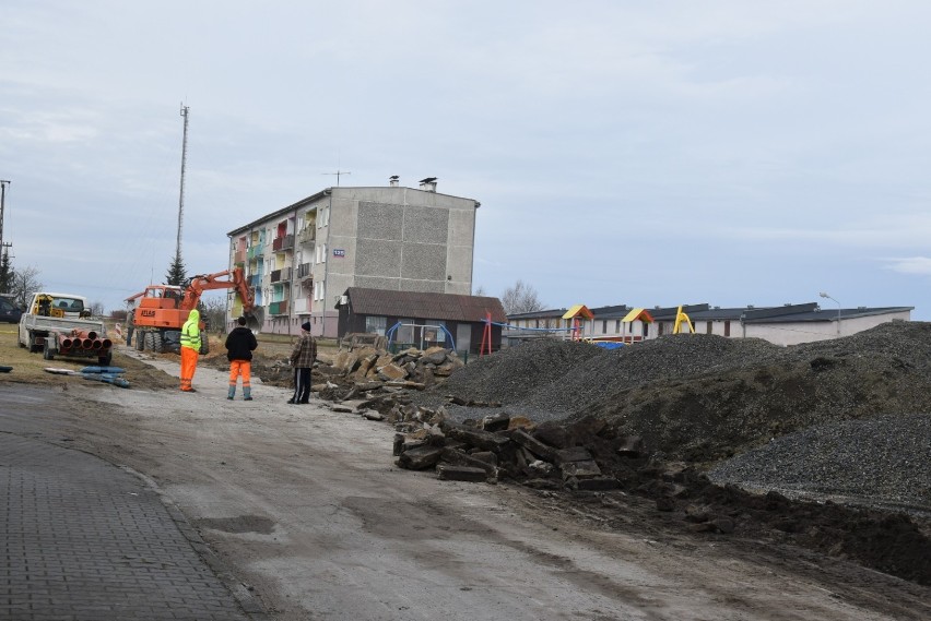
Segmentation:
<svg viewBox="0 0 931 621">
<path fill-rule="evenodd" d="M 2 621 L 266 618 L 177 510 L 97 457 L 0 432 L 0 503 Z"/>
</svg>

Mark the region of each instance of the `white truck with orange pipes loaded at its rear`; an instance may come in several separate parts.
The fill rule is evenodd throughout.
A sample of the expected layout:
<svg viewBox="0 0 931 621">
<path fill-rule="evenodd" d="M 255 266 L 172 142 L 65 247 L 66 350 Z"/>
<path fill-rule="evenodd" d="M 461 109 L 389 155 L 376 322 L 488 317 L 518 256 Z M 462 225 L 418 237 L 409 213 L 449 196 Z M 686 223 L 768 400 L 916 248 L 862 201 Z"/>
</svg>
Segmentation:
<svg viewBox="0 0 931 621">
<path fill-rule="evenodd" d="M 91 319 L 87 299 L 74 294 L 33 294 L 20 318 L 20 347 L 42 350 L 43 358 L 96 358 L 102 367 L 113 359 L 113 342 L 103 320 Z"/>
</svg>

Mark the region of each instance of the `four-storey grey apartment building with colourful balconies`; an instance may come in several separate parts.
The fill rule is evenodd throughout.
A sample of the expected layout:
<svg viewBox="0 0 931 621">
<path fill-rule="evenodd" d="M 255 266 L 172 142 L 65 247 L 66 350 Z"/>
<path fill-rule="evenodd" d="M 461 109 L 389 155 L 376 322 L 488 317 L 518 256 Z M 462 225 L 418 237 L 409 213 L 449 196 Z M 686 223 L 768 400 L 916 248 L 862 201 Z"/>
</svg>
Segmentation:
<svg viewBox="0 0 931 621">
<path fill-rule="evenodd" d="M 350 287 L 469 295 L 480 203 L 420 188 L 327 188 L 227 234 L 263 313 L 262 332 L 337 337 Z M 243 312 L 231 296 L 227 321 Z"/>
</svg>

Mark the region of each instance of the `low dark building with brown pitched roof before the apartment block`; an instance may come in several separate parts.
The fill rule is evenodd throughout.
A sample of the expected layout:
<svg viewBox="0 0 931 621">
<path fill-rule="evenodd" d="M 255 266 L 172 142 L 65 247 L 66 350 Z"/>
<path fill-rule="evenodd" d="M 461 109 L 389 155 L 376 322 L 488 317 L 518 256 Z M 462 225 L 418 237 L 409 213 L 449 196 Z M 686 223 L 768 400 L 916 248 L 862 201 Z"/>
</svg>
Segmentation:
<svg viewBox="0 0 931 621">
<path fill-rule="evenodd" d="M 421 349 L 440 346 L 478 354 L 491 318 L 492 350 L 502 345 L 507 321 L 498 298 L 350 287 L 337 303 L 338 333 L 388 336 Z M 498 325 L 494 325 L 498 324 Z"/>
</svg>

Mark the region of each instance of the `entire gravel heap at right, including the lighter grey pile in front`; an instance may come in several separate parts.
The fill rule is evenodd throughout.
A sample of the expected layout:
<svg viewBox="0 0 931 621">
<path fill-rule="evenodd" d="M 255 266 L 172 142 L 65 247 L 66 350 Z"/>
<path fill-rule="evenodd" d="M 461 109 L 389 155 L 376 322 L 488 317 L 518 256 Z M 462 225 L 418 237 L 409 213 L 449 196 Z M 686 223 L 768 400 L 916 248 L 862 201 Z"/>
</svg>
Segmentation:
<svg viewBox="0 0 931 621">
<path fill-rule="evenodd" d="M 419 399 L 498 402 L 537 422 L 596 416 L 660 457 L 716 465 L 718 481 L 928 507 L 930 366 L 921 322 L 793 347 L 712 335 L 614 351 L 541 341 L 474 361 Z"/>
</svg>

